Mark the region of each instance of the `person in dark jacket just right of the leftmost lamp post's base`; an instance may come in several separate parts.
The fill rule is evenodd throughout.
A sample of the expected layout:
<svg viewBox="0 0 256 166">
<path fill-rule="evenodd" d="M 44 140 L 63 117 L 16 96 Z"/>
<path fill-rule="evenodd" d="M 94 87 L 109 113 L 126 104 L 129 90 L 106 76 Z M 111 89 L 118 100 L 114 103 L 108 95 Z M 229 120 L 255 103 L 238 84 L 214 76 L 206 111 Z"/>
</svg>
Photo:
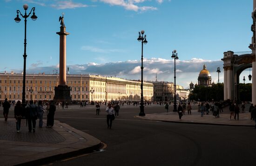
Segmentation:
<svg viewBox="0 0 256 166">
<path fill-rule="evenodd" d="M 26 118 L 28 125 L 28 132 L 31 133 L 33 125 L 33 133 L 35 132 L 35 123 L 37 120 L 37 106 L 33 103 L 33 100 L 29 101 L 29 105 L 26 107 Z"/>
</svg>

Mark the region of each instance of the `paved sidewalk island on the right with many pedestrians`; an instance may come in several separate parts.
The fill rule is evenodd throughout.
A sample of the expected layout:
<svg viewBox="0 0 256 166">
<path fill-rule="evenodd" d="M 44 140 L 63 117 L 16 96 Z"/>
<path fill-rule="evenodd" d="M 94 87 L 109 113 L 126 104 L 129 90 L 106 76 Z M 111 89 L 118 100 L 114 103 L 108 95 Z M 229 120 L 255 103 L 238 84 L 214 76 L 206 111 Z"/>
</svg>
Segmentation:
<svg viewBox="0 0 256 166">
<path fill-rule="evenodd" d="M 192 124 L 206 124 L 206 125 L 226 125 L 226 126 L 255 126 L 254 120 L 250 120 L 250 113 L 239 113 L 239 120 L 234 120 L 232 116 L 229 120 L 230 114 L 228 112 L 220 113 L 220 118 L 215 118 L 210 112 L 209 115 L 204 115 L 201 117 L 201 112 L 197 110 L 192 110 L 191 115 L 186 114 L 179 119 L 177 112 L 166 113 L 153 113 L 146 114 L 146 116 L 135 116 L 139 119 L 144 120 L 159 120 L 165 122 L 175 122 L 175 123 L 192 123 Z"/>
</svg>

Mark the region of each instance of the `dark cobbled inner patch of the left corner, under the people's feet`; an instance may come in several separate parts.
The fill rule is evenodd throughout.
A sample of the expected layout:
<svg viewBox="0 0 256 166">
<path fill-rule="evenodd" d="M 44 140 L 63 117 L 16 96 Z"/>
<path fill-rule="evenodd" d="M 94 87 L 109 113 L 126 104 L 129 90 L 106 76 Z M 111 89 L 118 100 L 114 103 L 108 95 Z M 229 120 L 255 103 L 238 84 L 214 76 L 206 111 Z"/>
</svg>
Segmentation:
<svg viewBox="0 0 256 166">
<path fill-rule="evenodd" d="M 44 126 L 46 126 L 44 124 Z M 35 133 L 28 132 L 28 126 L 26 126 L 26 120 L 21 120 L 20 133 L 16 133 L 15 119 L 8 119 L 7 122 L 0 121 L 0 139 L 11 141 L 25 141 L 25 142 L 37 142 L 37 143 L 59 143 L 64 141 L 59 133 L 53 128 L 38 127 L 38 120 L 35 129 Z"/>
</svg>

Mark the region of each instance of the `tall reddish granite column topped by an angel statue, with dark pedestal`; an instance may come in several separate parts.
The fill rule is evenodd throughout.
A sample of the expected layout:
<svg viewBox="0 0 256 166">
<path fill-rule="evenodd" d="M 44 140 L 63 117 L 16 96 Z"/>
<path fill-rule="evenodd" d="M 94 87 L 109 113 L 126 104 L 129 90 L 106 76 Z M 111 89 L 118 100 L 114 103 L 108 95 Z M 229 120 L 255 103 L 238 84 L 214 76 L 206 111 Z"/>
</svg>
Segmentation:
<svg viewBox="0 0 256 166">
<path fill-rule="evenodd" d="M 66 36 L 69 34 L 66 32 L 64 24 L 64 13 L 59 18 L 61 21 L 61 31 L 57 32 L 60 35 L 60 80 L 59 85 L 55 86 L 54 101 L 71 102 L 70 88 L 66 85 Z"/>
</svg>

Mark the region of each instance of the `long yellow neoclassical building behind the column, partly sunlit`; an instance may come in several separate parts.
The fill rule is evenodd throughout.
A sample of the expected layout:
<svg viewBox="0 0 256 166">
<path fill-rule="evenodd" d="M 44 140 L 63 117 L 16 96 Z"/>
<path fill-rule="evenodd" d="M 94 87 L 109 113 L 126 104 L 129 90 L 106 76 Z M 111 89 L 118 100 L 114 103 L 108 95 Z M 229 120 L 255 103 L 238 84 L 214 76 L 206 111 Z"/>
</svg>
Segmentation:
<svg viewBox="0 0 256 166">
<path fill-rule="evenodd" d="M 0 73 L 0 100 L 22 99 L 22 73 Z M 59 84 L 58 74 L 26 74 L 26 100 L 53 100 L 54 87 Z M 140 100 L 141 82 L 101 75 L 68 74 L 67 86 L 70 87 L 72 100 L 110 101 Z M 29 89 L 34 92 L 30 93 Z M 153 100 L 154 85 L 143 83 L 143 99 Z"/>
</svg>

